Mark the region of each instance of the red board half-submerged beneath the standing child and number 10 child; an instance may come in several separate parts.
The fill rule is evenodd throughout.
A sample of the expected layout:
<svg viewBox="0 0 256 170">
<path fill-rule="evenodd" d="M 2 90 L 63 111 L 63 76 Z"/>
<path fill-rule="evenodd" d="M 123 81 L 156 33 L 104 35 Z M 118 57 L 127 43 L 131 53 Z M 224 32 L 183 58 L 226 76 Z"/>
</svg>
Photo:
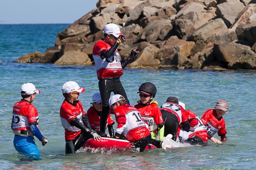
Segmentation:
<svg viewBox="0 0 256 170">
<path fill-rule="evenodd" d="M 103 150 L 131 150 L 132 145 L 127 140 L 101 138 L 101 141 L 95 141 L 93 138 L 91 138 L 84 143 L 83 148 Z M 156 148 L 156 146 L 149 144 L 145 149 L 148 150 Z"/>
</svg>

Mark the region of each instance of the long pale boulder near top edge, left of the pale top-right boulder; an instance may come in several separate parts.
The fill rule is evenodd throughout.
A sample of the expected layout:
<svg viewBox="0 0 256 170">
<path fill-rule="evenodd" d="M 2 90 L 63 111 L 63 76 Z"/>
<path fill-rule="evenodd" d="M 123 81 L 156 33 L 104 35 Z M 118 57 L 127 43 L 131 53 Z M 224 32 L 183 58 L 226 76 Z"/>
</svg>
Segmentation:
<svg viewBox="0 0 256 170">
<path fill-rule="evenodd" d="M 188 5 L 186 5 L 185 7 L 182 8 L 182 10 L 180 10 L 177 14 L 176 14 L 176 18 L 182 16 L 182 15 L 186 15 L 189 12 L 206 12 L 206 10 L 204 9 L 206 8 L 206 6 L 202 5 L 201 3 L 195 3 L 195 2 L 191 2 Z"/>
</svg>

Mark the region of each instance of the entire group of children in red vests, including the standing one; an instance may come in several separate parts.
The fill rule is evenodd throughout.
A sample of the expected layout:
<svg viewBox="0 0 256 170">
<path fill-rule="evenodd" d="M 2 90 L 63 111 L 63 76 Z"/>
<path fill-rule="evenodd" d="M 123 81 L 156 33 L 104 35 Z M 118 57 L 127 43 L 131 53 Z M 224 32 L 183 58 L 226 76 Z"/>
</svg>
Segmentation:
<svg viewBox="0 0 256 170">
<path fill-rule="evenodd" d="M 185 104 L 176 97 L 168 97 L 166 102 L 158 107 L 154 100 L 156 86 L 145 82 L 138 88 L 138 104 L 131 106 L 120 76 L 140 51 L 132 49 L 128 58 L 121 61 L 117 48 L 125 41 L 125 35 L 121 34 L 119 26 L 114 23 L 106 24 L 103 33 L 104 38 L 95 43 L 92 51 L 100 93 L 93 95 L 92 107 L 87 110 L 87 114 L 78 100 L 78 96 L 85 92 L 85 89 L 73 81 L 62 85 L 65 99 L 61 105 L 60 117 L 65 129 L 65 153 L 75 153 L 86 140 L 93 138 L 100 142 L 102 137 L 126 139 L 140 152 L 144 151 L 148 144 L 166 149 L 164 137 L 192 145 L 204 144 L 208 139 L 214 143 L 227 140 L 225 121 L 222 117 L 228 112 L 226 100 L 218 100 L 214 109 L 207 110 L 199 118 L 192 111 L 185 110 Z M 33 136 L 36 136 L 42 145 L 47 144 L 48 139 L 38 129 L 38 113 L 31 103 L 40 91 L 32 83 L 24 83 L 20 92 L 22 99 L 14 105 L 12 111 L 14 147 L 20 153 L 39 156 Z M 112 97 L 111 92 L 115 93 Z M 115 133 L 111 113 L 116 118 Z M 106 128 L 109 135 L 105 133 Z M 221 141 L 213 137 L 216 133 L 221 137 Z"/>
</svg>

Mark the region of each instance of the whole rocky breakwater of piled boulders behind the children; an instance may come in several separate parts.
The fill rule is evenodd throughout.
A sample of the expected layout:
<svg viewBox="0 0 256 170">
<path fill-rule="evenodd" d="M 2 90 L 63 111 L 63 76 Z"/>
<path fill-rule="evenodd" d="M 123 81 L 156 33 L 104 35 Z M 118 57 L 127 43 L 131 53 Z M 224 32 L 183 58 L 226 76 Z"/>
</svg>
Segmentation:
<svg viewBox="0 0 256 170">
<path fill-rule="evenodd" d="M 99 0 L 54 47 L 15 62 L 91 65 L 107 23 L 126 36 L 122 59 L 140 49 L 131 68 L 256 69 L 256 0 Z"/>
</svg>

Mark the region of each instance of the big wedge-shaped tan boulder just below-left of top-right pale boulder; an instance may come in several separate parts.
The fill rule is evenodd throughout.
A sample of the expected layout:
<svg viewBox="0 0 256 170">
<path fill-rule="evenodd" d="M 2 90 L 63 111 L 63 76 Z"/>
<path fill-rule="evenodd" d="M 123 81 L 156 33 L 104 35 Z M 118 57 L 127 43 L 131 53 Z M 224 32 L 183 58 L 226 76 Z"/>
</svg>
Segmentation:
<svg viewBox="0 0 256 170">
<path fill-rule="evenodd" d="M 225 34 L 226 36 L 224 36 Z M 232 41 L 232 39 L 228 39 L 228 36 L 229 32 L 226 24 L 222 19 L 218 18 L 210 20 L 206 24 L 199 27 L 195 32 L 189 34 L 187 40 L 195 42 L 195 46 L 191 52 L 192 55 L 194 55 L 197 52 L 202 51 L 204 46 L 210 41 Z"/>
</svg>

